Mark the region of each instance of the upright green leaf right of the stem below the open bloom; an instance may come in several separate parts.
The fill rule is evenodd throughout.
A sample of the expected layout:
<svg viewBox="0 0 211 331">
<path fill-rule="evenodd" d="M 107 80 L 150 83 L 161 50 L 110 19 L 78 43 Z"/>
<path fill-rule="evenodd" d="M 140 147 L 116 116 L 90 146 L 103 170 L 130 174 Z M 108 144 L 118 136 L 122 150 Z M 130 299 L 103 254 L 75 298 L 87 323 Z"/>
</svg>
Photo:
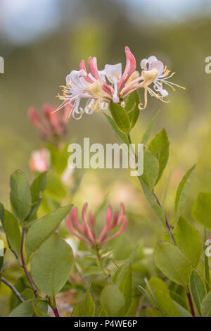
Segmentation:
<svg viewBox="0 0 211 331">
<path fill-rule="evenodd" d="M 151 154 L 157 158 L 159 163 L 159 173 L 156 181 L 157 184 L 158 180 L 160 180 L 160 177 L 162 176 L 163 170 L 165 169 L 169 158 L 170 142 L 164 129 L 160 130 L 158 135 L 155 135 L 155 137 L 148 145 L 148 149 L 151 151 Z"/>
</svg>

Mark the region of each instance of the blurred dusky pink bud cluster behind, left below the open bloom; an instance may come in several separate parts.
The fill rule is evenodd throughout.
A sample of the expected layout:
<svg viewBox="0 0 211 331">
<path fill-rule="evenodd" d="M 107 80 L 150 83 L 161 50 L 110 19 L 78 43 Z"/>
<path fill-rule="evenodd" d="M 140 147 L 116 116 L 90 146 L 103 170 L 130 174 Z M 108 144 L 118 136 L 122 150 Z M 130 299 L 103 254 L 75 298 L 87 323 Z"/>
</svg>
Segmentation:
<svg viewBox="0 0 211 331">
<path fill-rule="evenodd" d="M 55 110 L 55 106 L 44 104 L 42 114 L 39 114 L 34 108 L 30 108 L 28 111 L 28 116 L 34 127 L 37 127 L 42 139 L 51 140 L 63 137 L 66 133 L 70 107 L 67 105 L 63 111 L 53 113 Z"/>
</svg>

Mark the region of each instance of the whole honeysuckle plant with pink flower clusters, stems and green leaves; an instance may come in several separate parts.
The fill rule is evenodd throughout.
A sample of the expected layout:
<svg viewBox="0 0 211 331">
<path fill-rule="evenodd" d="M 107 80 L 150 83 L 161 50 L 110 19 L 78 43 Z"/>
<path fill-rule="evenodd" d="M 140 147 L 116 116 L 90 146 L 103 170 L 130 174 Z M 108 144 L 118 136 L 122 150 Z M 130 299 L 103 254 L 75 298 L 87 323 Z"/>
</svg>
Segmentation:
<svg viewBox="0 0 211 331">
<path fill-rule="evenodd" d="M 62 105 L 49 107 L 44 118 L 30 110 L 32 123 L 48 140 L 50 158 L 46 162 L 43 149 L 34 152 L 30 161 L 34 181 L 29 185 L 24 173 L 15 171 L 10 182 L 11 211 L 0 204 L 6 251 L 15 256 L 15 266 L 21 274 L 18 280 L 8 277 L 12 274 L 8 255 L 0 257 L 0 281 L 12 292 L 11 317 L 211 317 L 207 241 L 211 231 L 211 193 L 200 192 L 189 219 L 184 218 L 196 168 L 193 165 L 181 178 L 172 213 L 167 217 L 156 185 L 163 180 L 170 141 L 165 129 L 150 140 L 159 112 L 139 138 L 144 145 L 144 159 L 143 175 L 137 178 L 154 211 L 151 218 L 160 220 L 160 240 L 155 247 L 133 242 L 129 235 L 133 214 L 125 211 L 123 204 L 119 213 L 113 213 L 110 205 L 104 211 L 103 201 L 97 211 L 89 212 L 89 217 L 84 204 L 80 221 L 78 206 L 72 206 L 71 197 L 65 197 L 60 187 L 65 178 L 76 173 L 65 168 L 67 154 L 60 144 L 68 116 L 79 119 L 82 113 L 103 111 L 120 142 L 130 144 L 139 113 L 147 108 L 148 94 L 166 102 L 168 92 L 164 85 L 172 89 L 178 86 L 170 82 L 174 73 L 155 56 L 141 60 L 139 73 L 128 47 L 125 53 L 123 73 L 121 63 L 98 70 L 96 58 L 89 58 L 88 72 L 82 60 L 79 71 L 73 70 L 66 79 L 60 96 Z M 138 90 L 143 91 L 143 102 Z M 87 101 L 84 108 L 82 99 Z M 63 106 L 65 111 L 60 109 Z M 51 118 L 50 113 L 55 117 Z M 69 204 L 64 204 L 67 200 Z M 51 206 L 49 210 L 42 208 L 46 201 Z M 191 216 L 200 231 L 190 221 Z M 117 248 L 121 253 L 127 248 L 127 254 L 117 257 Z"/>
</svg>

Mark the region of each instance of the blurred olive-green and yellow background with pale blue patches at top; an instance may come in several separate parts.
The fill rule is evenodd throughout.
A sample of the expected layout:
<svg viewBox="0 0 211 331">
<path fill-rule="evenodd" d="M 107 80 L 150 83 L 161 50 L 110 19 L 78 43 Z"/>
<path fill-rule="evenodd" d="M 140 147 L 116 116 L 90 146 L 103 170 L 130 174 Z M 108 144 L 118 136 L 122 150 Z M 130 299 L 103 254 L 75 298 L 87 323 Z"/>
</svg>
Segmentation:
<svg viewBox="0 0 211 331">
<path fill-rule="evenodd" d="M 209 0 L 0 0 L 0 56 L 5 61 L 0 74 L 0 201 L 9 206 L 9 177 L 17 168 L 32 180 L 30 154 L 43 146 L 27 109 L 56 104 L 59 85 L 70 70 L 78 70 L 82 58 L 97 56 L 100 69 L 106 63 L 124 65 L 127 45 L 138 70 L 141 58 L 155 55 L 176 71 L 174 82 L 186 87 L 170 90 L 170 104 L 149 99 L 132 137 L 140 142 L 146 125 L 162 109 L 153 133 L 166 128 L 170 159 L 156 191 L 162 201 L 170 180 L 165 209 L 171 219 L 179 181 L 197 163 L 186 207 L 191 219 L 198 192 L 211 191 L 211 74 L 205 73 L 210 31 Z M 116 142 L 102 113 L 70 120 L 66 142 L 84 137 L 91 143 Z M 128 247 L 140 239 L 149 247 L 155 243 L 160 223 L 127 170 L 87 170 L 73 202 L 82 206 L 89 201 L 98 208 L 105 196 L 114 206 L 123 201 L 127 207 Z M 123 246 L 125 252 L 125 242 Z"/>
</svg>

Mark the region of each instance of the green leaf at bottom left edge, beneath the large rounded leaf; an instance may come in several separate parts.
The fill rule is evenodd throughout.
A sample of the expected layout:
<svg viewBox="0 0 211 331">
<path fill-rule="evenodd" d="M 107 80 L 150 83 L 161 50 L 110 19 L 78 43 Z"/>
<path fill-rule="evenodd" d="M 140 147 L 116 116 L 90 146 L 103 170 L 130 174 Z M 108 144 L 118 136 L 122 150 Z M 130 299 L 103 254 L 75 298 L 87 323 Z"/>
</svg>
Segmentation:
<svg viewBox="0 0 211 331">
<path fill-rule="evenodd" d="M 47 312 L 48 304 L 45 299 L 30 299 L 13 309 L 8 317 L 32 317 L 34 315 L 33 304 L 39 306 L 41 311 Z"/>
</svg>

